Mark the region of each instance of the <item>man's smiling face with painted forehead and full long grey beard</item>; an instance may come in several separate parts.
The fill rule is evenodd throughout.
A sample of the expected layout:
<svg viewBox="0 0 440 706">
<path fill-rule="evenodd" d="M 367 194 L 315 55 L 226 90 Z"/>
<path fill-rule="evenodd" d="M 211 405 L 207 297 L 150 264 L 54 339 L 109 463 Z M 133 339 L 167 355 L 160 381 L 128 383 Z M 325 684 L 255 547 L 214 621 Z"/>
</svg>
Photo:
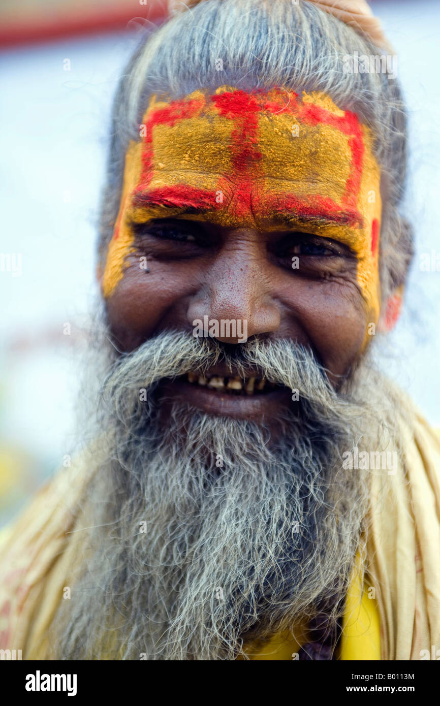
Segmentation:
<svg viewBox="0 0 440 706">
<path fill-rule="evenodd" d="M 323 95 L 195 92 L 143 124 L 102 277 L 129 354 L 106 328 L 94 554 L 52 642 L 63 659 L 235 659 L 321 609 L 336 628 L 362 544 L 366 477 L 342 454 L 376 448 L 381 385 L 359 365 L 341 397 L 319 363 L 337 386 L 378 318 L 379 169 Z M 217 342 L 192 335 L 205 317 Z"/>
</svg>

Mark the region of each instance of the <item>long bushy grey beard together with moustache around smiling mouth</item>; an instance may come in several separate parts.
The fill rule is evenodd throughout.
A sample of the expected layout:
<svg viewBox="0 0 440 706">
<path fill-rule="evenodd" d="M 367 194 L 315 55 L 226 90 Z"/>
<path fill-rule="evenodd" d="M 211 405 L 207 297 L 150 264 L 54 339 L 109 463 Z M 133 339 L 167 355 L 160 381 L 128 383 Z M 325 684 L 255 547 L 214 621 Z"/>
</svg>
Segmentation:
<svg viewBox="0 0 440 706">
<path fill-rule="evenodd" d="M 54 621 L 57 657 L 235 659 L 244 640 L 322 611 L 333 630 L 368 504 L 367 474 L 342 455 L 379 448 L 383 429 L 357 401 L 372 373 L 336 394 L 311 353 L 251 341 L 240 360 L 299 390 L 275 445 L 254 422 L 182 405 L 160 424 L 157 383 L 224 355 L 165 333 L 114 361 L 99 407 L 106 462 L 85 508 L 93 551 Z"/>
</svg>

